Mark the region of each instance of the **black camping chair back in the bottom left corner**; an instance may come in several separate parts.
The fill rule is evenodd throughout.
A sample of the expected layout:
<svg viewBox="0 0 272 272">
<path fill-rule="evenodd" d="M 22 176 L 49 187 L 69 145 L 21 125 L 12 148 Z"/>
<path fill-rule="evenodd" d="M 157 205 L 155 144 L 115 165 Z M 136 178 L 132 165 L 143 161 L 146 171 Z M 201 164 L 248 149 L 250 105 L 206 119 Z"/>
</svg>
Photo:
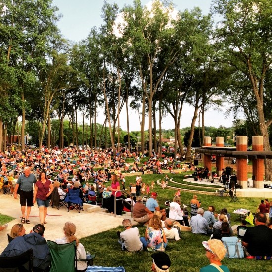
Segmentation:
<svg viewBox="0 0 272 272">
<path fill-rule="evenodd" d="M 0 257 L 0 272 L 32 272 L 33 251 L 14 257 Z"/>
</svg>

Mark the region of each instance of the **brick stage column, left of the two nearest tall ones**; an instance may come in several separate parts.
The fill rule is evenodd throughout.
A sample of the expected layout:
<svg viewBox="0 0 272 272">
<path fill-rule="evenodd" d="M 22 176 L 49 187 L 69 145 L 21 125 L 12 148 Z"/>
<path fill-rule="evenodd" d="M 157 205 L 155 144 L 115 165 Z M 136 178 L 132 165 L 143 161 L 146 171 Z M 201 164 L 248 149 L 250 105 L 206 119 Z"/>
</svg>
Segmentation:
<svg viewBox="0 0 272 272">
<path fill-rule="evenodd" d="M 236 150 L 247 151 L 247 136 L 237 136 Z M 247 188 L 247 160 L 237 158 L 237 182 L 243 187 Z"/>
</svg>

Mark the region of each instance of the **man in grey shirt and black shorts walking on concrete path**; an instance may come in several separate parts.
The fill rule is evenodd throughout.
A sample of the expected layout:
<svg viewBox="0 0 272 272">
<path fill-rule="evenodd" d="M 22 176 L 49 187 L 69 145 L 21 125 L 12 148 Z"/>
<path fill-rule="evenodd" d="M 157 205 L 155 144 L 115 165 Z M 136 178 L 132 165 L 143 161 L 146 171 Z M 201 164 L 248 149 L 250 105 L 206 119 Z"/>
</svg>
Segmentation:
<svg viewBox="0 0 272 272">
<path fill-rule="evenodd" d="M 14 198 L 17 199 L 17 191 L 20 185 L 21 222 L 26 224 L 30 224 L 29 215 L 33 206 L 33 183 L 36 183 L 35 175 L 30 173 L 30 167 L 27 166 L 24 168 L 24 174 L 19 176 L 14 189 Z"/>
</svg>

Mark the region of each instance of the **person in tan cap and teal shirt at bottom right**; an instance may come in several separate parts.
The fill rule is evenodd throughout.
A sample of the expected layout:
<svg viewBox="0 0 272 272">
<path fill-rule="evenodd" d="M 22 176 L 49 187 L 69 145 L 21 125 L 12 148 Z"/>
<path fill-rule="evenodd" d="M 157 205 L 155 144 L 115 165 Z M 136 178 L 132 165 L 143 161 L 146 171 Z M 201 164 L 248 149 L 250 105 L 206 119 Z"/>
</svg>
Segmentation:
<svg viewBox="0 0 272 272">
<path fill-rule="evenodd" d="M 200 272 L 229 272 L 227 266 L 221 264 L 221 260 L 226 254 L 226 248 L 220 240 L 208 240 L 202 242 L 206 250 L 206 257 L 208 258 L 210 264 L 206 267 L 202 267 Z"/>
</svg>

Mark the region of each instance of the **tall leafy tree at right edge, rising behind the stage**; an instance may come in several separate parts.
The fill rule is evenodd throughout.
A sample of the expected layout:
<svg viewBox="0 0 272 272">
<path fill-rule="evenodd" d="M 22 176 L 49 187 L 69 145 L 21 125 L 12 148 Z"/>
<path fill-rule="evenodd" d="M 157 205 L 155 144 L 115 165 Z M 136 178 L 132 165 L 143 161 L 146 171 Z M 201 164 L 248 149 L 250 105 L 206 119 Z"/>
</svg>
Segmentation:
<svg viewBox="0 0 272 272">
<path fill-rule="evenodd" d="M 251 84 L 264 148 L 270 150 L 268 128 L 272 113 L 265 113 L 266 77 L 272 64 L 272 1 L 214 0 L 214 11 L 223 19 L 217 37 L 227 52 L 227 62 Z M 265 161 L 265 179 L 272 179 L 272 160 Z"/>
</svg>

